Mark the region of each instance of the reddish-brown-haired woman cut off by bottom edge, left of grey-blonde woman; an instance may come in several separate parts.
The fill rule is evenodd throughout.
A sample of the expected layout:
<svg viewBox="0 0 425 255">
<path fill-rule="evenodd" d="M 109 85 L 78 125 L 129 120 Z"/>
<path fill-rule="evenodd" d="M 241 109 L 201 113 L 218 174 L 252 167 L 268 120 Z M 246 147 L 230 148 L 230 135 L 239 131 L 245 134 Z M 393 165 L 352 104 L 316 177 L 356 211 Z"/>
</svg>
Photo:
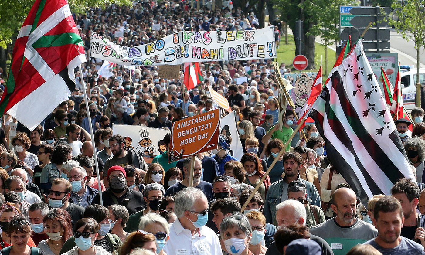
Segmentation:
<svg viewBox="0 0 425 255">
<path fill-rule="evenodd" d="M 156 253 L 155 240 L 156 238 L 153 234 L 138 229 L 137 231 L 134 231 L 127 236 L 127 239 L 121 247 L 119 255 L 128 255 L 131 251 L 133 251 L 133 249 L 136 248 L 147 249 L 153 252 L 155 255 L 158 255 L 158 253 Z"/>
</svg>

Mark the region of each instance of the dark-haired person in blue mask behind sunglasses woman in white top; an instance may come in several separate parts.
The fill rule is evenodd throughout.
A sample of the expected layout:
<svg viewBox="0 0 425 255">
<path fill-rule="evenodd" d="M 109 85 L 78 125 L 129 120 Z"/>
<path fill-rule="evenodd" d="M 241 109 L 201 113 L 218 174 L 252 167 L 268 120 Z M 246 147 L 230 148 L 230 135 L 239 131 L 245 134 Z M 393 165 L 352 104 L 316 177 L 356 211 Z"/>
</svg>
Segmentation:
<svg viewBox="0 0 425 255">
<path fill-rule="evenodd" d="M 118 249 L 122 246 L 122 241 L 117 235 L 109 233 L 111 230 L 111 221 L 109 220 L 108 209 L 99 204 L 92 204 L 85 209 L 84 218 L 93 218 L 96 223 L 99 224 L 97 231 L 93 232 L 97 235 L 96 238 L 92 239 L 91 244 L 94 246 L 102 246 L 107 252 L 118 254 Z M 77 232 L 79 226 L 76 225 L 75 229 Z M 78 238 L 77 236 L 71 236 L 65 242 L 59 254 L 72 250 L 76 244 L 79 246 L 80 243 L 86 244 L 86 242 L 88 242 L 87 239 L 82 242 L 83 240 L 84 239 Z"/>
</svg>

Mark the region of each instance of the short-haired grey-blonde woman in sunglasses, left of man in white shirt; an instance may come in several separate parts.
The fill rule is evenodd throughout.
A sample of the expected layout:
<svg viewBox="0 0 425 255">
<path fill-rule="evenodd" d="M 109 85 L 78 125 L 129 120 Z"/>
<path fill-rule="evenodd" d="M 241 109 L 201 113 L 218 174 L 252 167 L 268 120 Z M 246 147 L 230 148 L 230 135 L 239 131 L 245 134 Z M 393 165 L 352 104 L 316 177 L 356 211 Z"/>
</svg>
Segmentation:
<svg viewBox="0 0 425 255">
<path fill-rule="evenodd" d="M 162 248 L 170 239 L 170 228 L 165 218 L 155 213 L 147 213 L 140 218 L 139 229 L 155 235 L 156 253 L 166 255 Z"/>
</svg>

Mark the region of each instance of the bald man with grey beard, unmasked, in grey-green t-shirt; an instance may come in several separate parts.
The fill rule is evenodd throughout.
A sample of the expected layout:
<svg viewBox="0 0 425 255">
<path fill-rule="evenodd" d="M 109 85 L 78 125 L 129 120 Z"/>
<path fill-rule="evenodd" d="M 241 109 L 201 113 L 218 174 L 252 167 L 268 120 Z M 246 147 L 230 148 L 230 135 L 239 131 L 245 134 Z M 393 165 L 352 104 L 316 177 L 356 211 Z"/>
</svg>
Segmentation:
<svg viewBox="0 0 425 255">
<path fill-rule="evenodd" d="M 335 255 L 345 255 L 353 246 L 375 238 L 377 229 L 372 224 L 356 218 L 356 193 L 349 188 L 339 188 L 332 195 L 331 208 L 337 215 L 310 228 L 331 246 Z"/>
</svg>

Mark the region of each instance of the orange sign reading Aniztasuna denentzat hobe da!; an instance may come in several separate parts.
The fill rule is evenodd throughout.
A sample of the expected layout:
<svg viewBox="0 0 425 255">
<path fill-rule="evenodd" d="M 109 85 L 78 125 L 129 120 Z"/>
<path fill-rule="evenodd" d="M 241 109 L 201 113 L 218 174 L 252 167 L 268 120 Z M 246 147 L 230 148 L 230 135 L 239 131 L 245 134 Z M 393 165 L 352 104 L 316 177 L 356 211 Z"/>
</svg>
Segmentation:
<svg viewBox="0 0 425 255">
<path fill-rule="evenodd" d="M 215 109 L 174 122 L 168 161 L 187 158 L 218 146 L 221 112 Z"/>
</svg>

